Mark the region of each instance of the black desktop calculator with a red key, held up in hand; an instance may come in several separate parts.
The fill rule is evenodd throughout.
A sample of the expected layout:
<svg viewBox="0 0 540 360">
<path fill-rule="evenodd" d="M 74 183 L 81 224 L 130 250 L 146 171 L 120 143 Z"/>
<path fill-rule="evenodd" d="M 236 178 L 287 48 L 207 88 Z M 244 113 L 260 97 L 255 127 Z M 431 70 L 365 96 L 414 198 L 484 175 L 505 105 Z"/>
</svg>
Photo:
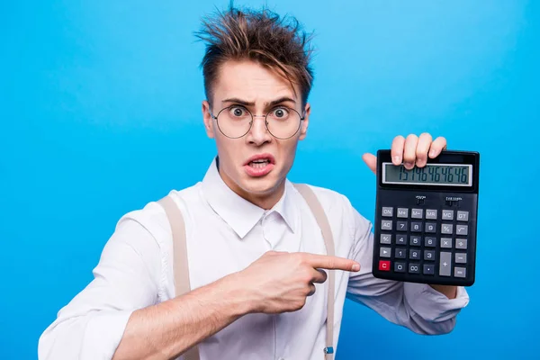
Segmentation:
<svg viewBox="0 0 540 360">
<path fill-rule="evenodd" d="M 411 170 L 377 152 L 375 277 L 474 284 L 479 167 L 478 152 L 444 150 Z"/>
</svg>

